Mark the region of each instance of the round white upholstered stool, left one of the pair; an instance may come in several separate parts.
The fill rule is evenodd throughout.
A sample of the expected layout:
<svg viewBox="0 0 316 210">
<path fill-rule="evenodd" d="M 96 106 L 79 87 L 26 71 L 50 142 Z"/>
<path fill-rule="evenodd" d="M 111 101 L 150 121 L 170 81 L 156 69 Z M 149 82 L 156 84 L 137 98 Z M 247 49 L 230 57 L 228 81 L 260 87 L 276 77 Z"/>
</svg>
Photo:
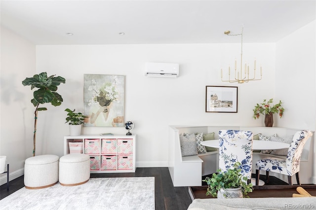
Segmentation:
<svg viewBox="0 0 316 210">
<path fill-rule="evenodd" d="M 58 182 L 57 155 L 38 155 L 25 160 L 24 185 L 27 189 L 50 187 Z"/>
</svg>

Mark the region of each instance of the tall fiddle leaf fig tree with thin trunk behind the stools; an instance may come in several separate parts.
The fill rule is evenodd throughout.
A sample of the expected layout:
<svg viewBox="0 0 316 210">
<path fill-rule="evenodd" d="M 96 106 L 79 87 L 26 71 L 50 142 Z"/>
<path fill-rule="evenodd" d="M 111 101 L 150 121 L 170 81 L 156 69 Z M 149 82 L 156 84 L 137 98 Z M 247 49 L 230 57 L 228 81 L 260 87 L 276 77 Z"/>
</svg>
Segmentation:
<svg viewBox="0 0 316 210">
<path fill-rule="evenodd" d="M 35 156 L 35 145 L 36 145 L 36 128 L 38 111 L 47 110 L 46 107 L 39 107 L 40 104 L 50 103 L 53 106 L 59 106 L 63 102 L 63 98 L 59 95 L 57 91 L 57 86 L 60 83 L 65 83 L 65 78 L 61 76 L 47 76 L 46 72 L 41 72 L 40 74 L 35 74 L 33 77 L 26 77 L 22 81 L 24 86 L 31 86 L 31 90 L 37 88 L 33 93 L 33 99 L 31 103 L 35 108 L 35 123 L 34 123 L 34 139 L 33 139 L 33 156 Z"/>
</svg>

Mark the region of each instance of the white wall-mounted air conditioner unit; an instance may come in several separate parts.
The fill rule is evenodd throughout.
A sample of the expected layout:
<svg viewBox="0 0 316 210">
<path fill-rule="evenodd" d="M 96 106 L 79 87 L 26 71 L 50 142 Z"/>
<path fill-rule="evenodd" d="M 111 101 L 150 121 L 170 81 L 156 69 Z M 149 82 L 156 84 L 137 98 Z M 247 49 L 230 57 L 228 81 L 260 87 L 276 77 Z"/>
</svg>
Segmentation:
<svg viewBox="0 0 316 210">
<path fill-rule="evenodd" d="M 179 75 L 179 64 L 169 63 L 146 63 L 145 76 L 151 77 L 171 77 Z"/>
</svg>

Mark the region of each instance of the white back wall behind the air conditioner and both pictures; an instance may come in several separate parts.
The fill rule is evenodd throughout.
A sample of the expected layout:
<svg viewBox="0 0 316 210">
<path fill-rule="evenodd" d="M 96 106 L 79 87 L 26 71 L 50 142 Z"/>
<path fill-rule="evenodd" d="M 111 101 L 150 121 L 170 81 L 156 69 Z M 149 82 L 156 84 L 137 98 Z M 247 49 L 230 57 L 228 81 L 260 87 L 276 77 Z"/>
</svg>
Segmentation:
<svg viewBox="0 0 316 210">
<path fill-rule="evenodd" d="M 137 166 L 167 166 L 168 125 L 263 125 L 252 109 L 274 97 L 275 44 L 244 44 L 244 61 L 261 63 L 264 78 L 247 84 L 221 82 L 220 69 L 239 62 L 240 44 L 60 45 L 37 46 L 37 72 L 66 78 L 58 93 L 64 102 L 40 113 L 38 138 L 43 153 L 62 155 L 65 108 L 82 111 L 83 74 L 125 75 L 125 121 L 137 134 Z M 178 78 L 144 76 L 146 62 L 179 63 Z M 251 64 L 252 66 L 252 64 Z M 224 73 L 224 75 L 225 75 Z M 205 86 L 238 86 L 238 113 L 206 113 Z M 264 88 L 263 88 L 264 87 Z M 85 127 L 85 134 L 121 133 L 123 128 Z"/>
</svg>

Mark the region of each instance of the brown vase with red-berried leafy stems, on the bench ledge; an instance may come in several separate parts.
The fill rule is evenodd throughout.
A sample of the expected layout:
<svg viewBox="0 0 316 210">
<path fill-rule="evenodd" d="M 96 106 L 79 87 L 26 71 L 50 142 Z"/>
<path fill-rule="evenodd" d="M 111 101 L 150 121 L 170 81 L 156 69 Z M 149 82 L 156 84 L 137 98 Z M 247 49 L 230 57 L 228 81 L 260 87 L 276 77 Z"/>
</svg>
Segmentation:
<svg viewBox="0 0 316 210">
<path fill-rule="evenodd" d="M 283 116 L 284 108 L 282 107 L 281 100 L 276 105 L 270 105 L 273 103 L 273 99 L 263 100 L 263 103 L 255 105 L 253 109 L 253 118 L 259 118 L 260 114 L 265 115 L 265 126 L 272 127 L 273 126 L 273 114 L 278 113 L 278 116 L 281 118 Z"/>
</svg>

